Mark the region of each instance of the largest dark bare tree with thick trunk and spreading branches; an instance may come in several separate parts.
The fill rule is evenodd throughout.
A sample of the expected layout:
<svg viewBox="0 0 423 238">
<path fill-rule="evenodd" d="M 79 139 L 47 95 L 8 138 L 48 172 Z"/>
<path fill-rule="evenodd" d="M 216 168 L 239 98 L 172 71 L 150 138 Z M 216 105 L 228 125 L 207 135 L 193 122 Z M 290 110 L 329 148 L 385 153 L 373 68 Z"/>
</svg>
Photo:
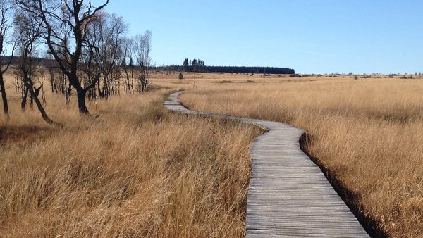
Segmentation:
<svg viewBox="0 0 423 238">
<path fill-rule="evenodd" d="M 99 79 L 94 78 L 89 85 L 81 84 L 78 70 L 82 48 L 87 44 L 87 28 L 107 4 L 109 0 L 100 6 L 93 6 L 91 0 L 18 0 L 18 6 L 30 11 L 42 25 L 42 37 L 47 42 L 49 54 L 75 88 L 81 114 L 90 114 L 85 97 Z"/>
</svg>

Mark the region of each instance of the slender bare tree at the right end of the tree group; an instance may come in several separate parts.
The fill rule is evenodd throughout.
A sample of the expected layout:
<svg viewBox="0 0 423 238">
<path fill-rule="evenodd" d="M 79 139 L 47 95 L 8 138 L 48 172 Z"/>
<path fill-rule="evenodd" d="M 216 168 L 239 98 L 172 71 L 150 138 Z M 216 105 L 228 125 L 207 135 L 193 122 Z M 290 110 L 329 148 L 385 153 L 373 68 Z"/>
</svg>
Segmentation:
<svg viewBox="0 0 423 238">
<path fill-rule="evenodd" d="M 152 49 L 152 32 L 147 30 L 144 35 L 136 35 L 134 38 L 134 47 L 138 64 L 138 91 L 145 92 L 149 85 L 149 68 L 152 64 L 150 56 Z"/>
</svg>

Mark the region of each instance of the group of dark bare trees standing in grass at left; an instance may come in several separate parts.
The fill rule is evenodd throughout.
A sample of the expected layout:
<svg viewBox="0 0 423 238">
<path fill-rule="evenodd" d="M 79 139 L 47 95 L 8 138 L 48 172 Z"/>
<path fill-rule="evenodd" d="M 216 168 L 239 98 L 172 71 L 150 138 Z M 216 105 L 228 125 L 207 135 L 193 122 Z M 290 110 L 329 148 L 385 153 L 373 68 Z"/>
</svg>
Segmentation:
<svg viewBox="0 0 423 238">
<path fill-rule="evenodd" d="M 148 89 L 152 32 L 128 37 L 128 24 L 104 11 L 107 4 L 109 0 L 97 6 L 91 0 L 0 0 L 0 92 L 6 120 L 8 70 L 15 75 L 22 110 L 29 98 L 52 125 L 58 123 L 43 107 L 46 80 L 66 102 L 75 90 L 82 115 L 90 115 L 86 99 Z"/>
</svg>

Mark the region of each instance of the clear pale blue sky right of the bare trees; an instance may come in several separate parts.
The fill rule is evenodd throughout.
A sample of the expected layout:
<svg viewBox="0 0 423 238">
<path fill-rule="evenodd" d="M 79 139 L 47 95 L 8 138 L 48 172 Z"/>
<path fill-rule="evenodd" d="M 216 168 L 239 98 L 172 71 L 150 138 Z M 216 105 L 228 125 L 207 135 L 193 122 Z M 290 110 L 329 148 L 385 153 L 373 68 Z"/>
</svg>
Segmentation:
<svg viewBox="0 0 423 238">
<path fill-rule="evenodd" d="M 157 65 L 423 73 L 422 0 L 110 0 L 129 35 L 152 31 Z"/>
</svg>

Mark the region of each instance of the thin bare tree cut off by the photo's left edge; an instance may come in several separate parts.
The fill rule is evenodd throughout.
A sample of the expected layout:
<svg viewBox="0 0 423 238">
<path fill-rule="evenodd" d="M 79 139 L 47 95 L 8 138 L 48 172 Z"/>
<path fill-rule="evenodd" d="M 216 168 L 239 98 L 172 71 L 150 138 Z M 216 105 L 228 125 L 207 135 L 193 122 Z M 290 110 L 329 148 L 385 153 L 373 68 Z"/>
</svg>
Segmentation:
<svg viewBox="0 0 423 238">
<path fill-rule="evenodd" d="M 8 103 L 7 103 L 7 96 L 6 96 L 6 87 L 4 85 L 4 73 L 8 70 L 9 66 L 11 65 L 11 61 L 13 58 L 13 49 L 10 58 L 6 57 L 6 47 L 7 47 L 7 35 L 8 32 L 11 30 L 13 23 L 11 21 L 12 17 L 12 8 L 13 4 L 11 1 L 8 0 L 0 0 L 0 92 L 1 92 L 1 99 L 3 101 L 3 112 L 4 117 L 6 120 L 9 120 L 8 115 Z"/>
</svg>

